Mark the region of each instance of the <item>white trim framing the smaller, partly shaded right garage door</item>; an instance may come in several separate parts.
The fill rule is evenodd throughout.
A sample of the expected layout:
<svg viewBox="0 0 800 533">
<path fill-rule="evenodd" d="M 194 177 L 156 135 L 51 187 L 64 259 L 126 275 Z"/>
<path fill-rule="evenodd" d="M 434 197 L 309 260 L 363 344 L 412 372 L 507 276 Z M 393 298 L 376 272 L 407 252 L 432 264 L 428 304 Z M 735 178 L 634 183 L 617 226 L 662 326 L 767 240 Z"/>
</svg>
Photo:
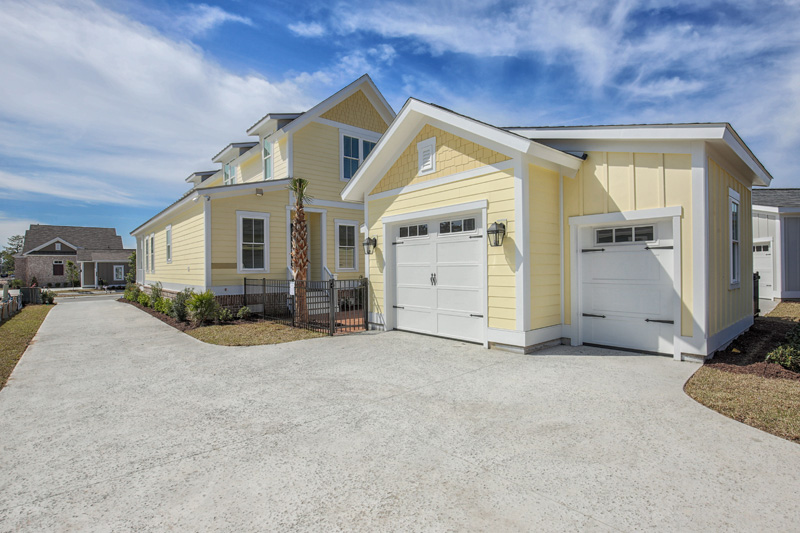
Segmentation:
<svg viewBox="0 0 800 533">
<path fill-rule="evenodd" d="M 570 226 L 570 303 L 571 303 L 571 329 L 572 342 L 576 345 L 583 344 L 582 317 L 583 309 L 582 280 L 581 272 L 583 269 L 581 250 L 593 248 L 594 240 L 584 242 L 581 230 L 598 226 L 615 226 L 625 224 L 642 224 L 646 222 L 663 222 L 672 220 L 673 234 L 673 357 L 681 360 L 682 344 L 681 338 L 681 215 L 683 208 L 680 206 L 643 209 L 639 211 L 622 211 L 617 213 L 606 213 L 601 215 L 575 216 L 569 218 Z M 594 234 L 594 232 L 589 232 Z"/>
</svg>

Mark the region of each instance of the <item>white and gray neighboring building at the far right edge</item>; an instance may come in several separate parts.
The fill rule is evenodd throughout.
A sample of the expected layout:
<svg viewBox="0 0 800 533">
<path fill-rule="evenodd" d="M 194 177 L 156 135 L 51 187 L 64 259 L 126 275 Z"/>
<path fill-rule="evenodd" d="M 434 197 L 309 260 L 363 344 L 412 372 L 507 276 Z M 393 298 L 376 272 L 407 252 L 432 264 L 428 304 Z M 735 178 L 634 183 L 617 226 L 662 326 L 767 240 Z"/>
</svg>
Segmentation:
<svg viewBox="0 0 800 533">
<path fill-rule="evenodd" d="M 760 298 L 800 298 L 800 189 L 753 189 Z"/>
</svg>

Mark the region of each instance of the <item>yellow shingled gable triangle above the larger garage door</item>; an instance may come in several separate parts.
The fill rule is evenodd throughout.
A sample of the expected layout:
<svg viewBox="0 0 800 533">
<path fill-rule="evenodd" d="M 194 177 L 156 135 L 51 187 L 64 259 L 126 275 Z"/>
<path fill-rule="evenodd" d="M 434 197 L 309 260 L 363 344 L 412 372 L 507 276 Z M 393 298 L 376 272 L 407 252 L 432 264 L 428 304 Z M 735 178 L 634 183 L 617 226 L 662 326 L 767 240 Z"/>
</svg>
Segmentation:
<svg viewBox="0 0 800 533">
<path fill-rule="evenodd" d="M 431 137 L 436 137 L 436 172 L 418 176 L 417 143 Z M 390 191 L 508 159 L 506 155 L 426 124 L 372 193 Z"/>
</svg>

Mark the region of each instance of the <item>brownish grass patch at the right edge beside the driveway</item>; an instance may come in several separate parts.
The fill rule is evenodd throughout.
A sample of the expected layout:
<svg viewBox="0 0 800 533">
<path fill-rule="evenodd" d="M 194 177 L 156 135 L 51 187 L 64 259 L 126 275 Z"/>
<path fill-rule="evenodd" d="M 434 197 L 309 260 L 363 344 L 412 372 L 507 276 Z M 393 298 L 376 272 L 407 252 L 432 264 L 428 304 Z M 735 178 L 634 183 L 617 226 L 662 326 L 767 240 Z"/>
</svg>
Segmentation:
<svg viewBox="0 0 800 533">
<path fill-rule="evenodd" d="M 686 384 L 686 393 L 729 418 L 800 443 L 800 381 L 704 366 Z"/>
</svg>

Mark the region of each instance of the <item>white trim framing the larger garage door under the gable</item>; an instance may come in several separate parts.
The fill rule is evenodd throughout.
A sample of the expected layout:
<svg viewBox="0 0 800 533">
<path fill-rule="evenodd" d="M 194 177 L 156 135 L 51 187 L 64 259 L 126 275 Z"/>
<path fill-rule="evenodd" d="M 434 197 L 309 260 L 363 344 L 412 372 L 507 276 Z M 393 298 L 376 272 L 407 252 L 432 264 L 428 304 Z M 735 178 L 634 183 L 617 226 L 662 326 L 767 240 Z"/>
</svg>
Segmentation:
<svg viewBox="0 0 800 533">
<path fill-rule="evenodd" d="M 482 338 L 484 347 L 488 347 L 488 324 L 489 324 L 489 291 L 487 287 L 487 272 L 488 272 L 488 253 L 486 247 L 489 241 L 486 236 L 487 224 L 487 210 L 489 202 L 487 200 L 479 200 L 475 202 L 465 202 L 461 204 L 452 204 L 444 207 L 434 209 L 424 209 L 414 211 L 411 213 L 403 213 L 398 215 L 390 215 L 383 217 L 383 255 L 384 255 L 384 269 L 383 269 L 383 319 L 384 328 L 389 331 L 395 329 L 396 325 L 396 311 L 395 305 L 395 246 L 392 245 L 392 231 L 395 226 L 400 223 L 412 222 L 415 220 L 426 220 L 432 218 L 442 218 L 458 214 L 474 213 L 480 216 L 483 221 L 483 230 L 481 235 L 481 242 L 483 243 L 484 253 L 481 254 L 481 264 L 483 268 L 482 279 L 482 308 L 483 308 L 483 326 Z"/>
</svg>

